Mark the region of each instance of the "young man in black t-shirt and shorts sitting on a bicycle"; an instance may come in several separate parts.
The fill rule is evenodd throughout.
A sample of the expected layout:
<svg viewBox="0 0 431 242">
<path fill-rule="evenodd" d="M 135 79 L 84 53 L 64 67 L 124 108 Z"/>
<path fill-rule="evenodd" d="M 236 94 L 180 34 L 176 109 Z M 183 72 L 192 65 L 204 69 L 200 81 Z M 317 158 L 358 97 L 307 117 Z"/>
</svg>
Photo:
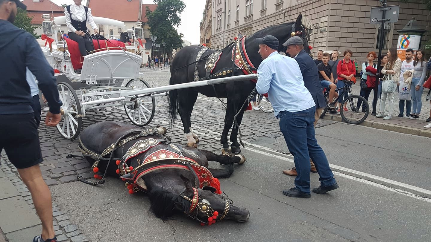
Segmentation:
<svg viewBox="0 0 431 242">
<path fill-rule="evenodd" d="M 330 109 L 335 109 L 337 105 L 333 102 L 334 97 L 338 96 L 338 93 L 335 92 L 337 86 L 334 84 L 334 76 L 332 75 L 331 66 L 328 65 L 329 62 L 329 54 L 324 53 L 322 55 L 322 63 L 317 65 L 317 70 L 319 71 L 319 79 L 320 86 L 322 90 L 324 88 L 329 88 L 329 103 L 328 107 Z"/>
</svg>

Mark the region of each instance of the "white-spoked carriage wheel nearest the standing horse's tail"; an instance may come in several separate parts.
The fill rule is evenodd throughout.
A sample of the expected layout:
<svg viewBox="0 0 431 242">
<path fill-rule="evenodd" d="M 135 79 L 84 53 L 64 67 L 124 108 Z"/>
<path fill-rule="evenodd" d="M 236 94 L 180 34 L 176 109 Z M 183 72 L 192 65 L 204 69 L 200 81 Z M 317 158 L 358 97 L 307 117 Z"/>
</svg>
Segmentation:
<svg viewBox="0 0 431 242">
<path fill-rule="evenodd" d="M 131 79 L 126 84 L 126 87 L 133 89 L 146 89 L 150 88 L 150 85 L 141 79 Z M 127 105 L 124 105 L 127 117 L 130 121 L 137 126 L 145 126 L 149 124 L 156 112 L 156 98 L 155 97 L 140 97 L 131 98 L 130 101 L 134 101 Z"/>
</svg>

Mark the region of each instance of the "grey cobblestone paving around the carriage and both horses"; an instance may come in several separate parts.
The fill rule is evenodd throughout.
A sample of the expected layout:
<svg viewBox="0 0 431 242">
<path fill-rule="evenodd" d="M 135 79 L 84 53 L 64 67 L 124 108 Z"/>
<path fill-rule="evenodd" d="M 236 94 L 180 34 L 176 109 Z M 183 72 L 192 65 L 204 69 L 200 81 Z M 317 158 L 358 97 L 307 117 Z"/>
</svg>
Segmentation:
<svg viewBox="0 0 431 242">
<path fill-rule="evenodd" d="M 140 74 L 140 78 L 144 79 L 154 87 L 169 84 L 169 72 L 150 71 L 146 68 L 142 68 L 141 71 L 143 74 Z M 79 92 L 77 93 L 80 94 Z M 353 93 L 359 93 L 359 85 L 354 85 Z M 169 120 L 167 118 L 167 97 L 157 97 L 156 103 L 156 114 L 151 124 L 159 124 L 169 128 L 167 135 L 171 137 L 172 141 L 185 145 L 186 141 L 184 140 L 184 132 L 180 129 L 182 125 L 181 121 L 178 119 L 177 126 L 174 128 L 169 127 Z M 425 113 L 425 110 L 429 112 L 429 102 L 428 104 L 424 103 L 423 113 Z M 45 114 L 46 112 L 47 108 L 44 108 L 42 113 Z M 225 108 L 217 98 L 208 98 L 206 96 L 199 95 L 191 119 L 192 127 L 195 128 L 194 131 L 198 134 L 200 139 L 199 149 L 219 152 L 221 149 L 219 137 L 224 125 L 224 116 Z M 44 117 L 42 118 L 44 119 Z M 87 116 L 83 118 L 83 127 L 81 128 L 81 131 L 84 130 L 85 127 L 99 121 L 130 122 L 122 107 L 91 110 L 88 111 Z M 334 121 L 320 120 L 318 127 L 323 127 L 333 123 Z M 243 141 L 250 143 L 262 139 L 271 141 L 281 136 L 278 121 L 274 118 L 273 114 L 266 114 L 257 110 L 245 112 L 244 119 L 241 124 L 241 132 L 243 135 Z M 90 164 L 86 161 L 79 158 L 66 158 L 66 156 L 71 153 L 81 155 L 81 152 L 78 149 L 77 140 L 66 140 L 60 136 L 55 128 L 48 128 L 44 125 L 41 125 L 39 128 L 39 136 L 41 140 L 42 155 L 44 157 L 44 161 L 41 163 L 41 170 L 48 186 L 77 181 L 77 174 L 82 175 L 85 179 L 93 177 L 94 174 L 90 170 Z M 287 150 L 281 152 L 286 153 Z M 19 178 L 16 168 L 13 168 L 9 162 L 5 162 L 6 155 L 4 153 L 1 154 L 1 158 L 0 169 L 16 186 L 18 191 L 34 210 L 31 195 Z M 78 230 L 78 227 L 70 222 L 69 217 L 59 210 L 55 201 L 53 203 L 53 209 L 54 225 L 59 242 L 78 242 L 88 240 L 81 231 Z"/>
</svg>

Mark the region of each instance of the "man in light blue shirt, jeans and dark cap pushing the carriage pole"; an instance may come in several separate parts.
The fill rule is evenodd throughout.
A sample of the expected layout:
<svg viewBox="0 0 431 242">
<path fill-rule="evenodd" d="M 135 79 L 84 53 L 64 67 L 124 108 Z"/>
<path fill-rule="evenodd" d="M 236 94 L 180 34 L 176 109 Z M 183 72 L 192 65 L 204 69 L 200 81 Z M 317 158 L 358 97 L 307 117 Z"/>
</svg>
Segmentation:
<svg viewBox="0 0 431 242">
<path fill-rule="evenodd" d="M 320 176 L 321 186 L 313 192 L 323 194 L 337 189 L 325 152 L 315 138 L 315 102 L 304 85 L 301 70 L 293 58 L 277 52 L 278 39 L 272 35 L 257 38 L 262 63 L 257 69 L 256 89 L 268 93 L 274 115 L 280 118 L 280 130 L 294 156 L 297 177 L 295 187 L 283 190 L 290 197 L 310 198 L 310 157 Z"/>
</svg>

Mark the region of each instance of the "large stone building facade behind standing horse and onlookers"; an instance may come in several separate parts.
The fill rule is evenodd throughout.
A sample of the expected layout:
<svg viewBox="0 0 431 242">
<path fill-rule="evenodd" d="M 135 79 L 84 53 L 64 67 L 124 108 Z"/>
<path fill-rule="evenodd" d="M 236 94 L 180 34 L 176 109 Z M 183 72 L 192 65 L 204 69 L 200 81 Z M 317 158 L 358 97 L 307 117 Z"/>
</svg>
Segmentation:
<svg viewBox="0 0 431 242">
<path fill-rule="evenodd" d="M 317 50 L 353 51 L 353 58 L 364 62 L 369 51 L 378 50 L 379 24 L 370 24 L 370 10 L 381 6 L 378 0 L 207 0 L 212 1 L 211 47 L 222 49 L 234 35 L 250 35 L 271 25 L 294 21 L 303 14 L 303 24 L 312 29 L 310 45 L 313 55 Z M 422 37 L 422 46 L 431 36 L 431 15 L 420 1 L 400 5 L 399 21 L 384 28 L 384 53 L 397 47 L 398 33 L 413 16 L 428 32 Z"/>
</svg>

